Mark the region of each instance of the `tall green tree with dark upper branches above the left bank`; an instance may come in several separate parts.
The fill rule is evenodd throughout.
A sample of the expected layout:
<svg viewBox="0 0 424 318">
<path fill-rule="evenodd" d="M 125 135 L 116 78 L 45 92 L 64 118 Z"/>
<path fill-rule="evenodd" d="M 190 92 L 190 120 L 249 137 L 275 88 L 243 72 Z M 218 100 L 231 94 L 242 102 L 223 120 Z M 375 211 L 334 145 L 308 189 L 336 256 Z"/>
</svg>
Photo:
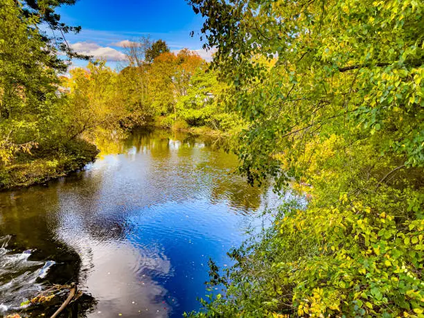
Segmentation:
<svg viewBox="0 0 424 318">
<path fill-rule="evenodd" d="M 0 7 L 0 164 L 9 164 L 16 154 L 42 147 L 63 134 L 60 108 L 55 96 L 58 73 L 67 64 L 58 50 L 69 57 L 85 58 L 65 48 L 64 34 L 80 28 L 60 22 L 55 8 L 72 0 L 4 0 Z M 61 36 L 48 37 L 43 24 Z"/>
</svg>

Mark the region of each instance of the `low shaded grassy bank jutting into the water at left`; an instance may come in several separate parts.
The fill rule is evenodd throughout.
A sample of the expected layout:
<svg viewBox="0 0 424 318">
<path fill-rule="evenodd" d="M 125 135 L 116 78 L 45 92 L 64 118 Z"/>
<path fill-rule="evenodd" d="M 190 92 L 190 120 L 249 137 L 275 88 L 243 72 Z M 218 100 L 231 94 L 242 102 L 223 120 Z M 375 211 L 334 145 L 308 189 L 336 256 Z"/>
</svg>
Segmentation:
<svg viewBox="0 0 424 318">
<path fill-rule="evenodd" d="M 0 191 L 44 184 L 64 177 L 96 159 L 98 149 L 83 139 L 69 141 L 55 150 L 35 150 L 14 164 L 0 168 Z"/>
</svg>

